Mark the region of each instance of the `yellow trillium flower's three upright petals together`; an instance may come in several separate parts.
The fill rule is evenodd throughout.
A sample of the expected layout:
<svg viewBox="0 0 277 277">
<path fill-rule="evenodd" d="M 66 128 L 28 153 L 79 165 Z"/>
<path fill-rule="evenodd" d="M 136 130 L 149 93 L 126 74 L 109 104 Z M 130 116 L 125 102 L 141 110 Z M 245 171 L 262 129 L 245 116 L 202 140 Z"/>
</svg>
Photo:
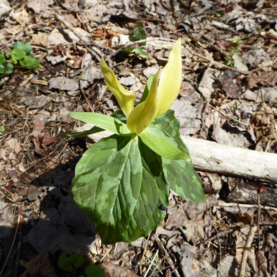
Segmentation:
<svg viewBox="0 0 277 277">
<path fill-rule="evenodd" d="M 128 129 L 139 135 L 150 126 L 154 118 L 166 113 L 178 96 L 181 87 L 181 38 L 172 48 L 168 63 L 163 71 L 161 72 L 160 68 L 154 75 L 148 97 L 136 107 L 134 107 L 134 93 L 127 91 L 118 82 L 114 72 L 109 69 L 103 58 L 100 66 L 107 87 L 114 93 L 118 104 L 127 117 Z"/>
</svg>

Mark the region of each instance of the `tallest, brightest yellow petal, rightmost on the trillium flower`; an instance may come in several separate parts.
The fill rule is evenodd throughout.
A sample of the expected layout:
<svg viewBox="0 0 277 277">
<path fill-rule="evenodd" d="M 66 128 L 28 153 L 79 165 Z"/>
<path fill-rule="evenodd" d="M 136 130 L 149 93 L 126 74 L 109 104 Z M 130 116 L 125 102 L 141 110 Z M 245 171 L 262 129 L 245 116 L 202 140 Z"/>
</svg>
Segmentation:
<svg viewBox="0 0 277 277">
<path fill-rule="evenodd" d="M 181 38 L 177 40 L 161 72 L 157 95 L 157 114 L 161 116 L 171 107 L 181 87 Z"/>
</svg>

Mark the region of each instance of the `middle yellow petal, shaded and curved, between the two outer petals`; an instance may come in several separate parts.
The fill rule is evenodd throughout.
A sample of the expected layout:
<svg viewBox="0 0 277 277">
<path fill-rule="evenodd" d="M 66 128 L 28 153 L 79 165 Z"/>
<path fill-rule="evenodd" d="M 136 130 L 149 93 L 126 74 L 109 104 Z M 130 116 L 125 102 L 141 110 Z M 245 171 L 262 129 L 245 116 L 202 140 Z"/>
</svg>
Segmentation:
<svg viewBox="0 0 277 277">
<path fill-rule="evenodd" d="M 150 126 L 155 118 L 157 109 L 157 85 L 161 68 L 154 75 L 148 97 L 141 104 L 137 105 L 127 118 L 127 127 L 131 132 L 141 134 L 144 129 Z"/>
</svg>

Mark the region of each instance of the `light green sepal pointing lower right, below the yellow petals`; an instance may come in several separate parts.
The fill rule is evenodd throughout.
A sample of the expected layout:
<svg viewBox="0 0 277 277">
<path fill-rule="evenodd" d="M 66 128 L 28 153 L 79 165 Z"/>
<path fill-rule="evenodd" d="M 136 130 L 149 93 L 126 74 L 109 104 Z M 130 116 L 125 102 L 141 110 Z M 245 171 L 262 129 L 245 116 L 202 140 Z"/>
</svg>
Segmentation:
<svg viewBox="0 0 277 277">
<path fill-rule="evenodd" d="M 159 133 L 157 132 L 158 130 Z M 159 134 L 159 136 L 156 136 L 156 134 Z M 139 134 L 139 138 L 145 145 L 148 146 L 148 148 L 159 154 L 161 157 L 172 160 L 184 159 L 186 161 L 190 161 L 188 153 L 176 148 L 166 139 L 165 135 L 161 136 L 161 134 L 164 134 L 161 129 L 148 128 Z"/>
</svg>

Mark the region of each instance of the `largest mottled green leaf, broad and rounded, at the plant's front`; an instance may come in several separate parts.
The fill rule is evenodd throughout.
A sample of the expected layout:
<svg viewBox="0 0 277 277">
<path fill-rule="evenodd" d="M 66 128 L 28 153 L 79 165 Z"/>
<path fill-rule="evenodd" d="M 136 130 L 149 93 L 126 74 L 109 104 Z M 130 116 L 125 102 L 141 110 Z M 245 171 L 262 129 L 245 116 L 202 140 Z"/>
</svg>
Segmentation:
<svg viewBox="0 0 277 277">
<path fill-rule="evenodd" d="M 138 136 L 113 135 L 84 153 L 75 168 L 73 195 L 104 244 L 131 242 L 156 229 L 168 206 L 161 157 Z"/>
</svg>

